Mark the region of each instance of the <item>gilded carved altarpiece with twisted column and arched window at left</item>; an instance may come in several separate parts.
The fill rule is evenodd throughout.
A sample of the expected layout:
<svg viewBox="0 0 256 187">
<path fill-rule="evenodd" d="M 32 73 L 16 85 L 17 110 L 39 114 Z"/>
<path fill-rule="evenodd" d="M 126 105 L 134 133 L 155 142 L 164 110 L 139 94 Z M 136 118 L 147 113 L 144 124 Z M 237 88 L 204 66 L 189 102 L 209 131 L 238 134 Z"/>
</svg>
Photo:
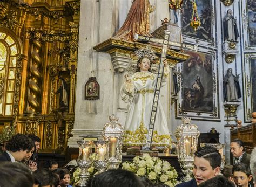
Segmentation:
<svg viewBox="0 0 256 187">
<path fill-rule="evenodd" d="M 0 133 L 64 153 L 74 124 L 80 1 L 0 2 Z"/>
</svg>

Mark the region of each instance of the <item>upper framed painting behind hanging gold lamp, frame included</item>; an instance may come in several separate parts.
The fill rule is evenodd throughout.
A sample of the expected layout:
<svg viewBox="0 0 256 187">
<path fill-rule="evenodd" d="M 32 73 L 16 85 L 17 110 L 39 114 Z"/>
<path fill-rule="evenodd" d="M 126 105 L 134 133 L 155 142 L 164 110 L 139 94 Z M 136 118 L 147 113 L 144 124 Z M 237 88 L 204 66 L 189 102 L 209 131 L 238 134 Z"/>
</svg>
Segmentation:
<svg viewBox="0 0 256 187">
<path fill-rule="evenodd" d="M 180 15 L 180 27 L 184 41 L 215 47 L 215 1 L 214 0 L 197 0 L 197 12 L 201 25 L 194 30 L 190 26 L 193 15 L 193 1 L 183 3 L 183 13 Z"/>
</svg>

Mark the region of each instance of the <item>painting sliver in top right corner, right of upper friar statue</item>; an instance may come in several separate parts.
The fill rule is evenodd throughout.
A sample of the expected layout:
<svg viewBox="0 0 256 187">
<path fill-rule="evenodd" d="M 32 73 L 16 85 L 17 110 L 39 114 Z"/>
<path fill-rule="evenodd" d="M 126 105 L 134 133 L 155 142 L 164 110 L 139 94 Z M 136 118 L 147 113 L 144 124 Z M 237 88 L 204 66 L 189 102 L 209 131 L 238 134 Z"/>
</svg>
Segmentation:
<svg viewBox="0 0 256 187">
<path fill-rule="evenodd" d="M 256 4 L 255 0 L 247 0 L 247 21 L 249 26 L 249 45 L 256 46 Z"/>
</svg>

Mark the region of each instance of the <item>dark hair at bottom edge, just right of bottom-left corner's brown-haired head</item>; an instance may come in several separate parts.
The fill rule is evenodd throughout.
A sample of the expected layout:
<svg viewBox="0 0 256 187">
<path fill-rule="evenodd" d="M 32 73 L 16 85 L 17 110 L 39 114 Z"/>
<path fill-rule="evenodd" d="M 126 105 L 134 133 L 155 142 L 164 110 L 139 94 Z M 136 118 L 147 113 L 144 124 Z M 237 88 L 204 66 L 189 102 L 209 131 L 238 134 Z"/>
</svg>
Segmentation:
<svg viewBox="0 0 256 187">
<path fill-rule="evenodd" d="M 39 169 L 33 172 L 33 178 L 35 180 L 35 184 L 39 184 L 39 186 L 47 186 L 53 185 L 53 173 L 49 169 Z"/>
</svg>

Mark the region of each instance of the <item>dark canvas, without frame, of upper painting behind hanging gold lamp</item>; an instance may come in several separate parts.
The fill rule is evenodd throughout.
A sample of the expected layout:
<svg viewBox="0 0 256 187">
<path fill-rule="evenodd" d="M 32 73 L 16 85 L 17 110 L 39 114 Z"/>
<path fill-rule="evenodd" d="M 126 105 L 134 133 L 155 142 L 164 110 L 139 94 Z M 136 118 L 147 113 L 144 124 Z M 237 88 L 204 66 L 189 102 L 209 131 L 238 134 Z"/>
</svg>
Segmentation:
<svg viewBox="0 0 256 187">
<path fill-rule="evenodd" d="M 190 26 L 193 12 L 193 2 L 185 1 L 183 3 L 184 13 L 181 14 L 181 31 L 184 35 L 198 38 L 206 41 L 212 41 L 212 15 L 211 1 L 198 0 L 197 11 L 201 25 L 196 31 Z"/>
</svg>

